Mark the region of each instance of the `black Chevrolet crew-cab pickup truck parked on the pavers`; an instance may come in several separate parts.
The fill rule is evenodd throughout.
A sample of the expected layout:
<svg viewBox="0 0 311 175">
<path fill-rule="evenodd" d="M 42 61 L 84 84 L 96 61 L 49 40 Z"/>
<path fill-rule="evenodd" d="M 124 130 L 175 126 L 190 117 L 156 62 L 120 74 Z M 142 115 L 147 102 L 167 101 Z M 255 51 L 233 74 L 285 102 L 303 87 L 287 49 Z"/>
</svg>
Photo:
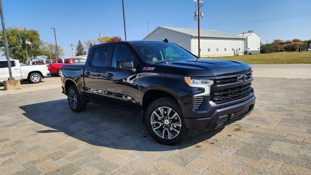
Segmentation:
<svg viewBox="0 0 311 175">
<path fill-rule="evenodd" d="M 62 65 L 61 81 L 74 112 L 89 102 L 135 111 L 152 138 L 169 145 L 189 130 L 240 120 L 255 105 L 248 64 L 198 58 L 169 42 L 95 45 L 85 65 Z"/>
</svg>

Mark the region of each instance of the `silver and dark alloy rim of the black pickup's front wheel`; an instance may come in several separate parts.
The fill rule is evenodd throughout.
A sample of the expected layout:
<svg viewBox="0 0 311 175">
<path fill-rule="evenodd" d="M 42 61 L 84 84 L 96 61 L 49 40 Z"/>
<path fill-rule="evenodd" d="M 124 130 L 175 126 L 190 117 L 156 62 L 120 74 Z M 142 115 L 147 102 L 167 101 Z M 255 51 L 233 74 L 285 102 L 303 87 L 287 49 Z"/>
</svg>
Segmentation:
<svg viewBox="0 0 311 175">
<path fill-rule="evenodd" d="M 155 134 L 163 139 L 173 139 L 181 131 L 181 120 L 170 107 L 159 107 L 151 116 L 151 126 Z"/>
</svg>

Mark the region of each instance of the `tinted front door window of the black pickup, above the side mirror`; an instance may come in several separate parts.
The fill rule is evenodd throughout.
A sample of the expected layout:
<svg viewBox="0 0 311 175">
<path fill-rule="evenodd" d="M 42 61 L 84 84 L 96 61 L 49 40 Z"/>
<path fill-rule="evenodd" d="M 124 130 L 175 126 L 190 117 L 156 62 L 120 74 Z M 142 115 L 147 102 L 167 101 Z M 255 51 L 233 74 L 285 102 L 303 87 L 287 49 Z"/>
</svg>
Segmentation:
<svg viewBox="0 0 311 175">
<path fill-rule="evenodd" d="M 115 68 L 117 61 L 134 61 L 134 57 L 125 46 L 115 46 L 112 55 L 111 67 Z"/>
</svg>

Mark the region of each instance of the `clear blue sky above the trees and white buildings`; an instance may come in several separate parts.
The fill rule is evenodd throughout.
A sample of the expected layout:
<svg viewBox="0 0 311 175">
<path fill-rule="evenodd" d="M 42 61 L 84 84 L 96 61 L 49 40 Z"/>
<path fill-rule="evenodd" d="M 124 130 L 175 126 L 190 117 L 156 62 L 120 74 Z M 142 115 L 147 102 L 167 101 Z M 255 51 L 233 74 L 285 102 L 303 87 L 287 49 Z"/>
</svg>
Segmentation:
<svg viewBox="0 0 311 175">
<path fill-rule="evenodd" d="M 231 34 L 254 30 L 261 42 L 311 38 L 311 0 L 203 0 L 201 28 Z M 197 28 L 192 0 L 124 0 L 128 40 L 140 40 L 157 26 Z M 6 27 L 39 31 L 65 57 L 69 44 L 96 39 L 98 33 L 124 39 L 121 0 L 2 0 Z M 307 15 L 307 16 L 306 16 Z"/>
</svg>

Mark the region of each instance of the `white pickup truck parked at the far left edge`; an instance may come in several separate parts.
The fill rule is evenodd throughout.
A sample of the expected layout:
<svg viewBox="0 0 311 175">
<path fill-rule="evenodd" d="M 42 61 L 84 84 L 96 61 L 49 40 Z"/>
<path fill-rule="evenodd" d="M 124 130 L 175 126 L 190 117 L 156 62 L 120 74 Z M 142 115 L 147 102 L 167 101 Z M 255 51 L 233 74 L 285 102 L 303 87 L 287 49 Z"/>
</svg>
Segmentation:
<svg viewBox="0 0 311 175">
<path fill-rule="evenodd" d="M 12 75 L 15 79 L 28 80 L 31 83 L 39 83 L 42 78 L 51 76 L 47 65 L 21 66 L 19 61 L 11 59 Z M 8 62 L 0 59 L 0 83 L 9 78 Z"/>
</svg>

